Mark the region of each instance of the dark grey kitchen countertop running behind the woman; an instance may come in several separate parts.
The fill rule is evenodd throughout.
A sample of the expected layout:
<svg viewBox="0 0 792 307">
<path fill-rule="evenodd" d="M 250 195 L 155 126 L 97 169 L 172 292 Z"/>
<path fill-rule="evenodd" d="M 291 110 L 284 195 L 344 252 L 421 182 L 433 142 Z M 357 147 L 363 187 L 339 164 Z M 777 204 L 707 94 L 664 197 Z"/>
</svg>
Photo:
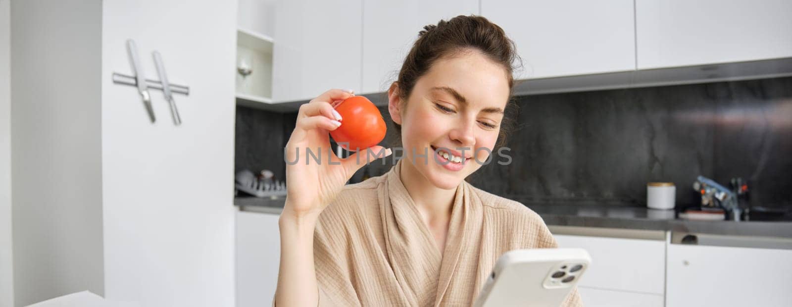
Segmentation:
<svg viewBox="0 0 792 307">
<path fill-rule="evenodd" d="M 240 210 L 280 214 L 284 198 L 234 198 Z M 663 230 L 680 233 L 706 233 L 728 236 L 792 238 L 792 221 L 733 222 L 691 221 L 676 218 L 673 210 L 645 207 L 599 205 L 528 206 L 544 219 L 547 226 L 600 227 L 610 229 Z"/>
</svg>

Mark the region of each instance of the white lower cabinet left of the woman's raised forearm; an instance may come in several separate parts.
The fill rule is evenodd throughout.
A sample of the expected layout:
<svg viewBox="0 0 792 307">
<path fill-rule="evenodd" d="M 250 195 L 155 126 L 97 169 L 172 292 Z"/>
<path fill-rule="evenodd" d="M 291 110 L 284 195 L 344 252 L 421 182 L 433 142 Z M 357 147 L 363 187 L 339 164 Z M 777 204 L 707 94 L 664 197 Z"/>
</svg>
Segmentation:
<svg viewBox="0 0 792 307">
<path fill-rule="evenodd" d="M 268 306 L 278 284 L 278 214 L 237 212 L 237 307 Z"/>
</svg>

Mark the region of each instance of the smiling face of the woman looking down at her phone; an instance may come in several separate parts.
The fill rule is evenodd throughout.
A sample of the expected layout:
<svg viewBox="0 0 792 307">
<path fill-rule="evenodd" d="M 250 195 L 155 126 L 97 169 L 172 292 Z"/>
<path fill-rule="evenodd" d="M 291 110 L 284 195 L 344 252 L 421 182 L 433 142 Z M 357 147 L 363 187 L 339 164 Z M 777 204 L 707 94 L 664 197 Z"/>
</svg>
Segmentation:
<svg viewBox="0 0 792 307">
<path fill-rule="evenodd" d="M 402 125 L 403 157 L 436 187 L 456 188 L 493 151 L 510 92 L 507 78 L 502 66 L 468 51 L 437 60 L 408 101 L 400 104 L 391 91 L 389 112 Z"/>
</svg>

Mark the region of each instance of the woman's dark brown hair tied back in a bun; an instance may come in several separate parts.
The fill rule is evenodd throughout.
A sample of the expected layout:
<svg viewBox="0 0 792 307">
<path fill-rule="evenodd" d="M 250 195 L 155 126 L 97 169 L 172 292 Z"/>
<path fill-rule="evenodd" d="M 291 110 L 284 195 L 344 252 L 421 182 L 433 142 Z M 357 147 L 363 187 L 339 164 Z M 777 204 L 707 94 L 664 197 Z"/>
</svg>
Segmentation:
<svg viewBox="0 0 792 307">
<path fill-rule="evenodd" d="M 514 41 L 510 40 L 501 27 L 485 17 L 459 15 L 449 21 L 440 20 L 437 25 L 426 25 L 418 32 L 418 39 L 407 54 L 402 70 L 399 71 L 398 97 L 406 103 L 413 92 L 416 82 L 426 74 L 438 59 L 457 55 L 470 49 L 481 51 L 483 55 L 498 63 L 508 75 L 509 100 L 501 122 L 496 147 L 504 146 L 506 137 L 514 129 L 516 102 L 512 97 L 514 71 L 521 67 L 520 56 L 516 53 Z M 401 142 L 402 125 L 396 127 L 396 142 Z"/>
</svg>

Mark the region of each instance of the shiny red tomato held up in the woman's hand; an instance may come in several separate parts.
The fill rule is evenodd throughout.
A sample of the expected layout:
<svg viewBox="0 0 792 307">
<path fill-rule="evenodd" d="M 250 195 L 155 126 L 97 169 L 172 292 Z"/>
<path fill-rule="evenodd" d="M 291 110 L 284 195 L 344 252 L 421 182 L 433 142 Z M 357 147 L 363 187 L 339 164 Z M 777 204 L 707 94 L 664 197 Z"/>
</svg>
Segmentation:
<svg viewBox="0 0 792 307">
<path fill-rule="evenodd" d="M 365 150 L 385 138 L 383 115 L 366 97 L 349 97 L 335 109 L 341 114 L 341 127 L 330 131 L 330 135 L 345 150 Z M 348 142 L 348 146 L 344 142 Z"/>
</svg>

